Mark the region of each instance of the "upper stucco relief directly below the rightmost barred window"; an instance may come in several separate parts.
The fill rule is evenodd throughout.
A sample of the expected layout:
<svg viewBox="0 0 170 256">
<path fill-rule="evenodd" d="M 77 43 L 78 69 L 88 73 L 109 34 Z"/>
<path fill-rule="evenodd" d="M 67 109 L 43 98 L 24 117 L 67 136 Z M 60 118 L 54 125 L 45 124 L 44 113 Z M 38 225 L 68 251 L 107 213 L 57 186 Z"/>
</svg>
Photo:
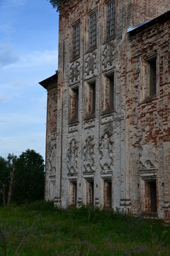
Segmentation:
<svg viewBox="0 0 170 256">
<path fill-rule="evenodd" d="M 115 45 L 111 42 L 105 45 L 105 48 L 102 53 L 103 55 L 102 63 L 104 65 L 104 68 L 107 68 L 108 64 L 109 66 L 113 65 L 114 49 L 115 49 Z"/>
</svg>

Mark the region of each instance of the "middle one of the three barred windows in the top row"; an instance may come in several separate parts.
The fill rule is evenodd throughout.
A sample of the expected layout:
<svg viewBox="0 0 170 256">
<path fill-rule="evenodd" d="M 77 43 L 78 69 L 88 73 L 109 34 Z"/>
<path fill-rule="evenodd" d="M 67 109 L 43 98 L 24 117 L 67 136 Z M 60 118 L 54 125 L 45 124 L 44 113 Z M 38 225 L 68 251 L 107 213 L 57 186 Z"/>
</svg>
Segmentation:
<svg viewBox="0 0 170 256">
<path fill-rule="evenodd" d="M 97 44 L 97 12 L 89 16 L 89 49 Z"/>
</svg>

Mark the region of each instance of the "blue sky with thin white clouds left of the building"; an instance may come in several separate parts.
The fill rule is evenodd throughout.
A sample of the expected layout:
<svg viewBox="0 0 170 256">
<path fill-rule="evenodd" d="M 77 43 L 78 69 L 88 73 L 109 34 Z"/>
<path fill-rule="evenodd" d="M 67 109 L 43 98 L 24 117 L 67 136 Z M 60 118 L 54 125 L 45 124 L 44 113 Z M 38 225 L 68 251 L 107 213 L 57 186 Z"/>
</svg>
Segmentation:
<svg viewBox="0 0 170 256">
<path fill-rule="evenodd" d="M 58 64 L 58 13 L 47 0 L 0 0 L 0 156 L 45 159 L 47 92 Z"/>
</svg>

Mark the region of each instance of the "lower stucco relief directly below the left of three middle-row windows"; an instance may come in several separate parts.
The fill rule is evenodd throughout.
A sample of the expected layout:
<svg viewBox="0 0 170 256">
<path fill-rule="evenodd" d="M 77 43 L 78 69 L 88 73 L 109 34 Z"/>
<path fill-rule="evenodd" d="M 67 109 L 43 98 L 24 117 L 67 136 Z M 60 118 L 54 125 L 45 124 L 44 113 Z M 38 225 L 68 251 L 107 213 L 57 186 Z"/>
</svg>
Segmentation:
<svg viewBox="0 0 170 256">
<path fill-rule="evenodd" d="M 69 172 L 77 172 L 78 171 L 78 141 L 72 139 L 70 142 L 70 147 L 67 152 L 68 156 L 68 170 Z"/>
</svg>

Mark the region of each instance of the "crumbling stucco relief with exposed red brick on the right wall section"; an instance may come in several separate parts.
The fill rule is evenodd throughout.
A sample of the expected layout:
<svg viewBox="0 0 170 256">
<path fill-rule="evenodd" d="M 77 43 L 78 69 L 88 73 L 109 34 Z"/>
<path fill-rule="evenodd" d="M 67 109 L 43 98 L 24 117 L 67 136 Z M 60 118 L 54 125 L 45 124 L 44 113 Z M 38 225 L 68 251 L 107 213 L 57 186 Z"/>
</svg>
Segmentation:
<svg viewBox="0 0 170 256">
<path fill-rule="evenodd" d="M 141 168 L 152 168 L 158 162 L 158 141 L 151 123 L 142 130 L 142 137 L 139 141 L 139 162 Z"/>
</svg>

